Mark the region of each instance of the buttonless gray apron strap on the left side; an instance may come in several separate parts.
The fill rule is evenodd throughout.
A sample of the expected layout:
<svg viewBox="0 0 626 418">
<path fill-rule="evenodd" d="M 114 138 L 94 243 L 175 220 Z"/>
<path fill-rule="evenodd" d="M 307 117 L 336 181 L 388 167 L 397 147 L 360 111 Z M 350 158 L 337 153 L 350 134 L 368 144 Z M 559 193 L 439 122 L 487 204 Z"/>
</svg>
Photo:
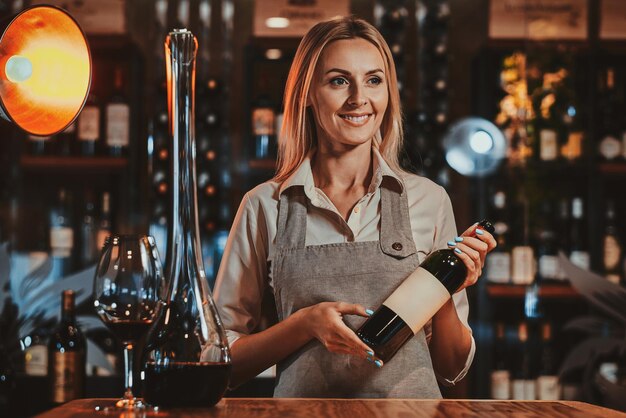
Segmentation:
<svg viewBox="0 0 626 418">
<path fill-rule="evenodd" d="M 280 196 L 276 249 L 304 248 L 306 241 L 306 196 L 299 186 L 290 187 Z"/>
</svg>

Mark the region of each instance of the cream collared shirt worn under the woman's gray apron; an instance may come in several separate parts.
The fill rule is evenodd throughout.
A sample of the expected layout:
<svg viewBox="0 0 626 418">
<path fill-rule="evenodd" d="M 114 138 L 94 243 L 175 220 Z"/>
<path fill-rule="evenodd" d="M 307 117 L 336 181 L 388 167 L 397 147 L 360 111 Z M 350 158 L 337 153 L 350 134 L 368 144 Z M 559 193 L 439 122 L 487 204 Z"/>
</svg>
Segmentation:
<svg viewBox="0 0 626 418">
<path fill-rule="evenodd" d="M 347 222 L 326 194 L 315 187 L 310 158 L 306 158 L 282 184 L 268 181 L 243 197 L 228 237 L 214 290 L 215 301 L 231 345 L 241 335 L 252 333 L 259 325 L 263 293 L 272 280 L 267 260 L 276 245 L 278 202 L 280 194 L 289 187 L 303 186 L 310 201 L 306 245 L 377 241 L 380 234 L 380 186 L 383 177 L 397 181 L 406 189 L 411 232 L 420 263 L 432 251 L 447 248 L 447 242 L 454 239 L 456 225 L 446 191 L 424 177 L 396 174 L 375 148 L 372 157 L 374 175 L 371 184 L 365 196 L 352 209 Z M 453 300 L 461 323 L 471 333 L 465 290 L 454 294 Z M 430 322 L 424 331 L 430 341 Z M 472 364 L 475 351 L 476 344 L 472 337 L 464 369 L 453 380 L 438 375 L 435 370 L 437 379 L 445 385 L 454 385 L 461 380 Z"/>
</svg>

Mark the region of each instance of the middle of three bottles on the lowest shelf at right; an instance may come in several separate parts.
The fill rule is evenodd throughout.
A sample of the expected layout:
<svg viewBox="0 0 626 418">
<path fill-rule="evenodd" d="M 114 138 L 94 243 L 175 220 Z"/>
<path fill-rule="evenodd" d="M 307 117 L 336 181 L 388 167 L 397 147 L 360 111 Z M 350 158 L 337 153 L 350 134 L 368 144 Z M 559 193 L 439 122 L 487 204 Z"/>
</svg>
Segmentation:
<svg viewBox="0 0 626 418">
<path fill-rule="evenodd" d="M 512 370 L 511 399 L 535 400 L 536 380 L 533 376 L 531 345 L 529 342 L 528 324 L 520 322 L 517 329 L 517 350 Z"/>
</svg>

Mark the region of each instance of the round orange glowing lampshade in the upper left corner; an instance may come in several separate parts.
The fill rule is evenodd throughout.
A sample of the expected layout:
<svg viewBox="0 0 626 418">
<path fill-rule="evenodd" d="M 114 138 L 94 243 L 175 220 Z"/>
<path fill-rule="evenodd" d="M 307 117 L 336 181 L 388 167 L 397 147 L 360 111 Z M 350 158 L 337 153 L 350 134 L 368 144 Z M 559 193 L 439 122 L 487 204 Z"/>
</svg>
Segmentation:
<svg viewBox="0 0 626 418">
<path fill-rule="evenodd" d="M 89 45 L 78 23 L 57 7 L 34 6 L 0 30 L 0 116 L 31 135 L 64 130 L 91 85 Z"/>
</svg>

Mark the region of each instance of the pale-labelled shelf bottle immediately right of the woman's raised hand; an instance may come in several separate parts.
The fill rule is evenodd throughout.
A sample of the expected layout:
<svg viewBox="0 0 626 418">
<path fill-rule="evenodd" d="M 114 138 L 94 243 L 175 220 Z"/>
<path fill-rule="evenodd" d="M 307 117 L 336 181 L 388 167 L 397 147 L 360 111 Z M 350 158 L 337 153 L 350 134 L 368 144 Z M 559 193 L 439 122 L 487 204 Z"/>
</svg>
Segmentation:
<svg viewBox="0 0 626 418">
<path fill-rule="evenodd" d="M 509 222 L 506 210 L 506 194 L 498 190 L 493 196 L 493 228 L 498 246 L 489 254 L 486 278 L 493 283 L 511 281 L 511 249 L 509 247 Z"/>
</svg>

